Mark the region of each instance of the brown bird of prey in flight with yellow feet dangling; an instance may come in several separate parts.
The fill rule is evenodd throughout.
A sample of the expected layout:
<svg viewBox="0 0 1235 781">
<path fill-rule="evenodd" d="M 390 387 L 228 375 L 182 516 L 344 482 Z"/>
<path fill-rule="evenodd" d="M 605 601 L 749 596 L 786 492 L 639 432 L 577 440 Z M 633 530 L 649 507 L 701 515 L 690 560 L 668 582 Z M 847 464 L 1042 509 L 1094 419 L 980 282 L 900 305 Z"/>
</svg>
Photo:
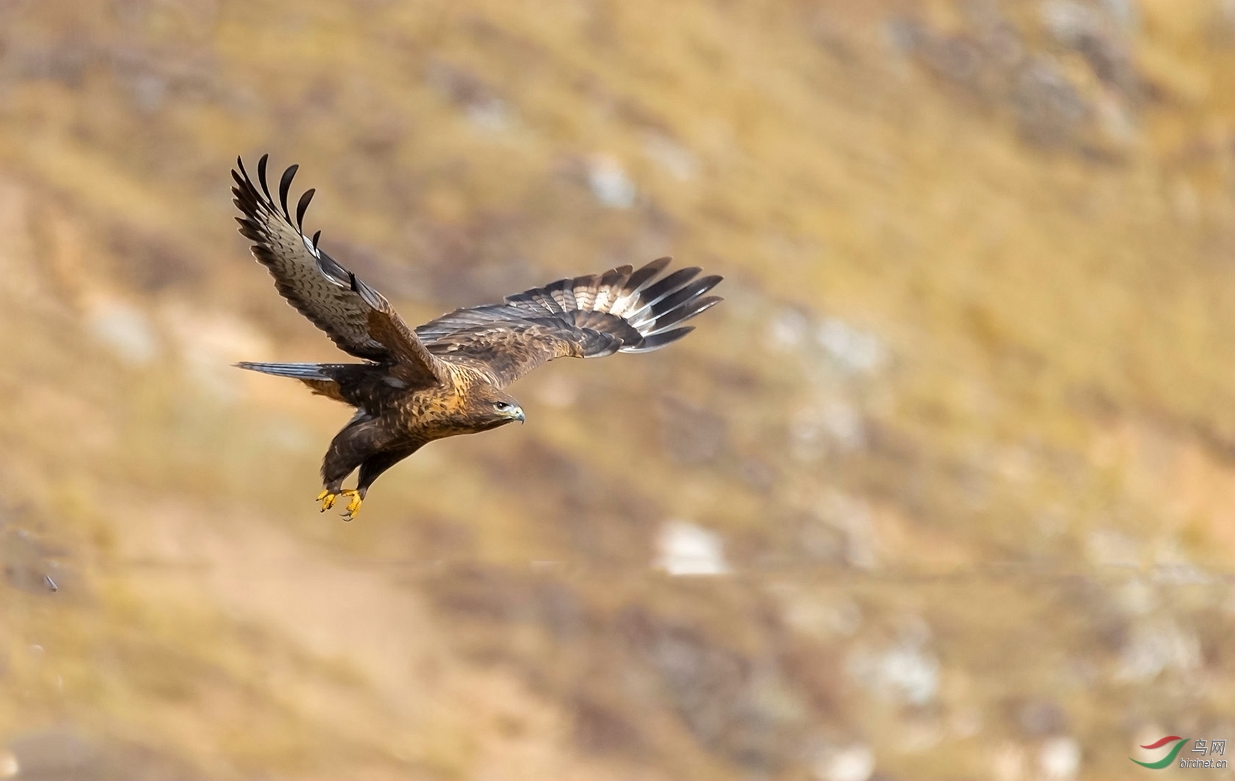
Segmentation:
<svg viewBox="0 0 1235 781">
<path fill-rule="evenodd" d="M 638 270 L 622 265 L 562 279 L 412 329 L 380 292 L 319 247 L 321 231 L 305 236 L 314 190 L 300 196 L 295 217 L 288 210 L 298 167 L 283 173 L 275 202 L 266 162 L 263 155 L 257 163 L 261 189 L 240 159 L 232 170 L 240 232 L 254 242 L 253 257 L 283 297 L 363 363 L 236 365 L 300 380 L 356 407 L 326 450 L 317 496 L 324 512 L 348 497 L 347 521 L 382 473 L 433 439 L 524 422 L 522 408 L 504 389 L 536 366 L 555 358 L 659 349 L 694 329 L 685 321 L 721 301 L 704 295 L 720 276 L 695 279 L 698 268 L 662 275 L 669 258 L 661 258 Z M 343 480 L 357 469 L 356 487 L 345 490 Z"/>
</svg>

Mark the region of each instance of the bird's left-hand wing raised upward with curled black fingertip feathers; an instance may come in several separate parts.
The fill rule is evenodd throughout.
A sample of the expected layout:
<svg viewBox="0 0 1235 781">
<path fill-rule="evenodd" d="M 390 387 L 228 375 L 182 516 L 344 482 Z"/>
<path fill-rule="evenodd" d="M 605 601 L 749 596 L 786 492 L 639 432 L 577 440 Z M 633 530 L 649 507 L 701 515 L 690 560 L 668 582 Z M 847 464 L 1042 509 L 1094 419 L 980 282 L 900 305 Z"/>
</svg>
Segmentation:
<svg viewBox="0 0 1235 781">
<path fill-rule="evenodd" d="M 293 222 L 288 190 L 298 167 L 291 165 L 283 173 L 275 205 L 266 183 L 266 160 L 263 154 L 257 163 L 257 180 L 262 188 L 258 191 L 245 164 L 236 159 L 232 195 L 243 215 L 236 217 L 240 232 L 256 242 L 253 257 L 269 269 L 283 297 L 345 352 L 399 364 L 404 379 L 411 381 L 440 381 L 441 366 L 390 302 L 317 247 L 321 231 L 312 239 L 304 234 L 305 210 L 314 190 L 300 196 Z"/>
</svg>

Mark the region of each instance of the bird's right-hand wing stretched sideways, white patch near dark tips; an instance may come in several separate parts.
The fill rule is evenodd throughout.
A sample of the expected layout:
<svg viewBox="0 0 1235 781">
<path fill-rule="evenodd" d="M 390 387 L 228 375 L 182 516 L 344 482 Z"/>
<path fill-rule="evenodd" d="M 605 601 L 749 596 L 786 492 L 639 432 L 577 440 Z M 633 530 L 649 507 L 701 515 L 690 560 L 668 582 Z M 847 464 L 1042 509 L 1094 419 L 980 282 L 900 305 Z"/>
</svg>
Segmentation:
<svg viewBox="0 0 1235 781">
<path fill-rule="evenodd" d="M 505 386 L 555 358 L 646 353 L 694 331 L 683 323 L 719 304 L 720 276 L 698 268 L 659 274 L 669 258 L 638 269 L 561 279 L 506 296 L 504 304 L 456 310 L 416 328 L 433 355 L 471 366 Z"/>
</svg>

